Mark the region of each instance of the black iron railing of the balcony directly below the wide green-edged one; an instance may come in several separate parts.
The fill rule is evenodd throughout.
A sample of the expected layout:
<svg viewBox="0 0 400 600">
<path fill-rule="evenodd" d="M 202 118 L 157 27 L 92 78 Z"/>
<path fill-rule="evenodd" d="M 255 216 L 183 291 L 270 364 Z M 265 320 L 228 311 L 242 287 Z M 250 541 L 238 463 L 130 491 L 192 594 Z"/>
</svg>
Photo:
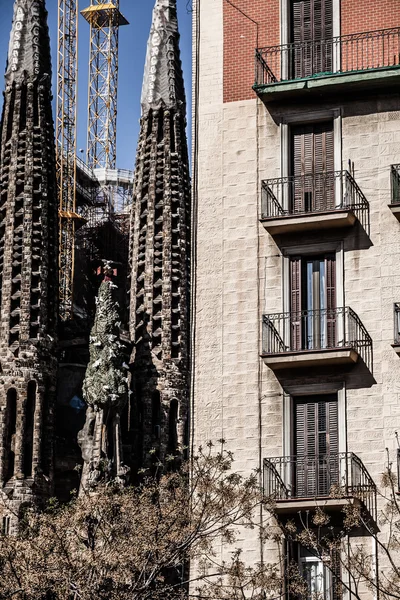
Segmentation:
<svg viewBox="0 0 400 600">
<path fill-rule="evenodd" d="M 351 210 L 369 232 L 369 204 L 348 171 L 261 182 L 261 219 Z"/>
</svg>

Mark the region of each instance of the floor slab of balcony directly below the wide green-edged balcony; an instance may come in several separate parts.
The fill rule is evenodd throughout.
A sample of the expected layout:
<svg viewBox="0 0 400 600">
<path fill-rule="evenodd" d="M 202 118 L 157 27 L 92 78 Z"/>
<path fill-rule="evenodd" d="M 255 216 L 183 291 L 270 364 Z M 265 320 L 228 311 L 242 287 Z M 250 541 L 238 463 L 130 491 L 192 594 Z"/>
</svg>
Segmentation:
<svg viewBox="0 0 400 600">
<path fill-rule="evenodd" d="M 283 217 L 261 219 L 264 228 L 271 235 L 283 233 L 299 233 L 319 229 L 352 227 L 356 216 L 351 210 L 333 210 L 324 213 L 288 215 Z"/>
</svg>

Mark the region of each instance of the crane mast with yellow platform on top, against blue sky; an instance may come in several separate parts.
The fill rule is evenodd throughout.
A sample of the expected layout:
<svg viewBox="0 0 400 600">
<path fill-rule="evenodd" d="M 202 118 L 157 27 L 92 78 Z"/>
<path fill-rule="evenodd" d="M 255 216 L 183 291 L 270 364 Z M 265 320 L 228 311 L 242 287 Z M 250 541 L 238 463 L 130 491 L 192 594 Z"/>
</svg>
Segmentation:
<svg viewBox="0 0 400 600">
<path fill-rule="evenodd" d="M 119 0 L 91 0 L 82 15 L 90 24 L 87 163 L 92 169 L 115 169 L 118 39 L 120 26 L 128 21 Z"/>
</svg>

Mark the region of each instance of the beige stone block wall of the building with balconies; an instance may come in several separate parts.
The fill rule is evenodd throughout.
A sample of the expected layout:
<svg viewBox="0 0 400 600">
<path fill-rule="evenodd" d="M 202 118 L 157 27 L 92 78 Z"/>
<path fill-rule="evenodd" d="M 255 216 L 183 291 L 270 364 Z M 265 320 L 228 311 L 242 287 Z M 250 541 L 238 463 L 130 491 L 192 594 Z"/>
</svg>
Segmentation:
<svg viewBox="0 0 400 600">
<path fill-rule="evenodd" d="M 269 112 L 256 99 L 223 104 L 222 39 L 222 2 L 202 0 L 193 434 L 195 445 L 223 437 L 236 468 L 249 473 L 263 458 L 283 454 L 285 390 L 259 358 L 261 315 L 284 310 L 282 248 L 258 217 L 261 180 L 282 176 L 280 124 L 290 111 Z M 370 242 L 352 228 L 324 239 L 343 241 L 345 305 L 373 338 L 374 381 L 355 368 L 299 376 L 292 384 L 345 386 L 343 439 L 376 483 L 386 447 L 395 459 L 394 432 L 400 430 L 400 358 L 391 347 L 393 303 L 400 301 L 400 224 L 387 206 L 390 165 L 400 163 L 399 106 L 398 97 L 382 97 L 296 107 L 298 122 L 313 110 L 339 119 L 342 168 L 354 162 L 370 203 Z M 285 244 L 313 241 L 292 236 Z M 243 545 L 256 560 L 254 539 Z"/>
</svg>

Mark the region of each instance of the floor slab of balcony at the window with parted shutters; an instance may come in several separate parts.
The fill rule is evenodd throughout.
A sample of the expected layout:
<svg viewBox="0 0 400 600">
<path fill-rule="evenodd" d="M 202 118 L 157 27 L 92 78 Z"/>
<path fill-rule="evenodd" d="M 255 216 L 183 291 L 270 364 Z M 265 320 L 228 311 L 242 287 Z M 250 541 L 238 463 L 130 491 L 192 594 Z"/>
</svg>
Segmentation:
<svg viewBox="0 0 400 600">
<path fill-rule="evenodd" d="M 353 348 L 330 348 L 327 350 L 302 350 L 279 354 L 262 354 L 264 363 L 272 371 L 318 367 L 325 365 L 355 364 L 358 353 Z"/>
</svg>

